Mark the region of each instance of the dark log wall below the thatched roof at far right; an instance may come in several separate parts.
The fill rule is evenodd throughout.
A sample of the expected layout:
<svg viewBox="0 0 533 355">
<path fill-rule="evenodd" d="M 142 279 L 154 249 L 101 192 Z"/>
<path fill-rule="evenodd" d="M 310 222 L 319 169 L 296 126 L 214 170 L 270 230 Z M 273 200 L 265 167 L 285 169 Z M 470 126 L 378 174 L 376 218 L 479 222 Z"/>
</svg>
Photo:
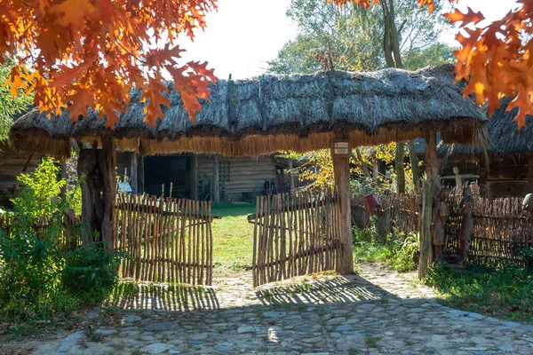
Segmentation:
<svg viewBox="0 0 533 355">
<path fill-rule="evenodd" d="M 491 156 L 487 197 L 524 197 L 533 193 L 530 162 L 531 156 L 526 154 Z"/>
</svg>

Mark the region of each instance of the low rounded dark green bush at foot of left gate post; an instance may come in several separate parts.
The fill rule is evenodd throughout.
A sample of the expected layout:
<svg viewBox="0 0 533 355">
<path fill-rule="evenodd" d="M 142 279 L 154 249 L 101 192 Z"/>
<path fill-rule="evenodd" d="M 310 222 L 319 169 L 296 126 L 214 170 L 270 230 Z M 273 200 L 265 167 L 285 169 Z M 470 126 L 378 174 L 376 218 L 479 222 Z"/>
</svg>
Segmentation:
<svg viewBox="0 0 533 355">
<path fill-rule="evenodd" d="M 74 294 L 105 294 L 115 285 L 120 257 L 107 251 L 101 243 L 77 247 L 65 255 L 61 280 Z"/>
</svg>

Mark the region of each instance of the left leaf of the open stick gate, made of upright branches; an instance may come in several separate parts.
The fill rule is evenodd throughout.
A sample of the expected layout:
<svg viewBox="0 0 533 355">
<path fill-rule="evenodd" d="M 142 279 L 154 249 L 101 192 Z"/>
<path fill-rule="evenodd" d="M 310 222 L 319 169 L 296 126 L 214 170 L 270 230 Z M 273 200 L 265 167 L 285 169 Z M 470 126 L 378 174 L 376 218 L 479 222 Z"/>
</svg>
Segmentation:
<svg viewBox="0 0 533 355">
<path fill-rule="evenodd" d="M 123 278 L 211 285 L 211 202 L 121 193 L 115 209 Z"/>
</svg>

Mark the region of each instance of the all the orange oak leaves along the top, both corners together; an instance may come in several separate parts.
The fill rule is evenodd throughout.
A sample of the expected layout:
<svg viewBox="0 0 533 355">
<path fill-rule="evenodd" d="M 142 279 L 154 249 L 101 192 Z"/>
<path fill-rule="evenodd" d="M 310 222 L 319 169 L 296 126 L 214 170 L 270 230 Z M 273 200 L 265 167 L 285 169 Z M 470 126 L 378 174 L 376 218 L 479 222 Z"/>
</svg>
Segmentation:
<svg viewBox="0 0 533 355">
<path fill-rule="evenodd" d="M 94 107 L 100 117 L 107 114 L 109 126 L 119 120 L 116 112 L 128 104 L 135 85 L 148 99 L 146 119 L 154 124 L 163 117 L 161 104 L 169 105 L 162 83 L 166 71 L 195 121 L 202 109 L 198 100 L 209 98 L 207 84 L 216 78 L 205 63 L 179 65 L 178 36 L 194 38 L 193 30 L 205 27 L 204 17 L 216 9 L 216 1 L 2 0 L 0 51 L 19 64 L 6 84 L 12 83 L 13 93 L 35 92 L 36 105 L 48 113 L 70 103 L 73 120 L 86 114 L 87 106 Z M 379 0 L 326 1 L 354 2 L 365 8 L 379 4 Z M 417 3 L 430 12 L 435 9 L 435 0 Z M 475 94 L 489 113 L 499 106 L 502 95 L 514 98 L 508 109 L 519 107 L 515 121 L 521 128 L 526 115 L 533 114 L 533 1 L 517 3 L 517 11 L 485 27 L 475 26 L 484 18 L 471 9 L 446 16 L 459 26 L 457 41 L 462 48 L 455 52 L 456 79 L 469 83 L 465 95 Z M 163 42 L 163 48 L 156 45 Z"/>
</svg>

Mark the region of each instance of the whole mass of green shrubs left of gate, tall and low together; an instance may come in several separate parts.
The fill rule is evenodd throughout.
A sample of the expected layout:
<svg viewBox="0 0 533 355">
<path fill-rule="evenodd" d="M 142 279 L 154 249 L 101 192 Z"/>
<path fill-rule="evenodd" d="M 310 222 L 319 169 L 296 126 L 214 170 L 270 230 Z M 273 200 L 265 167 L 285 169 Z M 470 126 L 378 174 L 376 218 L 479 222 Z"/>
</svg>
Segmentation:
<svg viewBox="0 0 533 355">
<path fill-rule="evenodd" d="M 76 309 L 105 295 L 116 280 L 118 259 L 101 245 L 68 251 L 79 228 L 64 221 L 79 209 L 80 193 L 74 185 L 62 199 L 59 172 L 58 162 L 44 158 L 36 171 L 20 175 L 11 223 L 0 230 L 0 324 L 7 321 L 16 335 L 62 320 L 71 324 Z"/>
</svg>

